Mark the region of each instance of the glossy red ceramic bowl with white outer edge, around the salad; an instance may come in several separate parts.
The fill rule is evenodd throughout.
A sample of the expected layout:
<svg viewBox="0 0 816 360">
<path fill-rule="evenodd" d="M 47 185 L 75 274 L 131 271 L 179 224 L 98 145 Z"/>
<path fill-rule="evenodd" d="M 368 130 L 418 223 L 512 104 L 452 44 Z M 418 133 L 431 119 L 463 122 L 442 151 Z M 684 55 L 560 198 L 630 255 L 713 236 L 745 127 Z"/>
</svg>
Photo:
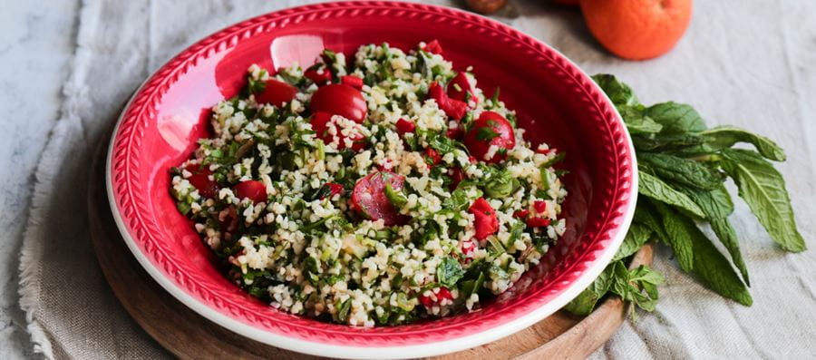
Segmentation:
<svg viewBox="0 0 816 360">
<path fill-rule="evenodd" d="M 406 326 L 361 328 L 292 316 L 223 277 L 209 248 L 170 198 L 171 166 L 206 136 L 209 108 L 238 92 L 248 65 L 309 65 L 324 48 L 353 52 L 388 42 L 438 39 L 454 65 L 473 66 L 487 93 L 518 113 L 534 143 L 567 152 L 568 231 L 508 292 L 470 314 Z M 243 336 L 313 355 L 420 357 L 481 345 L 564 306 L 607 266 L 636 201 L 627 130 L 587 74 L 546 44 L 490 19 L 450 8 L 352 2 L 296 7 L 212 34 L 144 83 L 121 115 L 107 186 L 121 234 L 141 265 L 181 302 Z"/>
</svg>

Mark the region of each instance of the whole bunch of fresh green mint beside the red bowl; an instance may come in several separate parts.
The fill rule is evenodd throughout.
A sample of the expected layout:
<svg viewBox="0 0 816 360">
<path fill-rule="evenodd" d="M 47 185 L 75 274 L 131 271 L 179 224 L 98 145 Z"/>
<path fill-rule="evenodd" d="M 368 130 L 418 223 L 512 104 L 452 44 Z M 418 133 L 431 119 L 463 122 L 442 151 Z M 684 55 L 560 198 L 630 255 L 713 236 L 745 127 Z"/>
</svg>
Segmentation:
<svg viewBox="0 0 816 360">
<path fill-rule="evenodd" d="M 680 268 L 706 287 L 751 306 L 748 269 L 728 221 L 733 201 L 724 181 L 729 177 L 734 181 L 739 196 L 780 248 L 804 250 L 785 181 L 770 162 L 785 161 L 782 149 L 768 138 L 733 126 L 708 129 L 700 114 L 686 104 L 645 106 L 613 75 L 592 78 L 607 92 L 632 135 L 640 196 L 635 219 L 612 263 L 565 309 L 588 315 L 598 300 L 614 293 L 647 311 L 654 310 L 656 286 L 664 278 L 646 266 L 628 269 L 626 265 L 649 241 L 665 243 Z M 734 149 L 738 142 L 749 143 L 755 150 Z M 706 225 L 731 261 L 700 229 Z"/>
</svg>

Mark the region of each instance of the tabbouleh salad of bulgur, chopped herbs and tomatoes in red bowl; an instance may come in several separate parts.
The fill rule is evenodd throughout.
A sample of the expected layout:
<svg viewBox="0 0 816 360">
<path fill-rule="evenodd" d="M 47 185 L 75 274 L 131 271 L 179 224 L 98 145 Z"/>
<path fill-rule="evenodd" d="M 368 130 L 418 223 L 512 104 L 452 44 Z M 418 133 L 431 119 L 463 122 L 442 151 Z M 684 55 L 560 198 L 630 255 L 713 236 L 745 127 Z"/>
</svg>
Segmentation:
<svg viewBox="0 0 816 360">
<path fill-rule="evenodd" d="M 305 71 L 257 65 L 171 170 L 181 213 L 249 294 L 292 314 L 392 326 L 471 311 L 563 234 L 562 153 L 436 41 Z"/>
</svg>

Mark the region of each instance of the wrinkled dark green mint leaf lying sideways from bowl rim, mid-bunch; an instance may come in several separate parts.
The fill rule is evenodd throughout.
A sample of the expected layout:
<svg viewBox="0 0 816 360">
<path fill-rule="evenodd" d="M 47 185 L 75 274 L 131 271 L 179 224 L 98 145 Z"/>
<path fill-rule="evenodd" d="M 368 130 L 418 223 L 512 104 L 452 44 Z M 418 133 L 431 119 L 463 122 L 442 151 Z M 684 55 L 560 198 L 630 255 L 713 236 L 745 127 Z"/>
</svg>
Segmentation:
<svg viewBox="0 0 816 360">
<path fill-rule="evenodd" d="M 662 153 L 640 153 L 637 161 L 648 165 L 661 179 L 700 190 L 713 190 L 723 183 L 724 177 L 717 170 L 690 159 Z"/>
</svg>

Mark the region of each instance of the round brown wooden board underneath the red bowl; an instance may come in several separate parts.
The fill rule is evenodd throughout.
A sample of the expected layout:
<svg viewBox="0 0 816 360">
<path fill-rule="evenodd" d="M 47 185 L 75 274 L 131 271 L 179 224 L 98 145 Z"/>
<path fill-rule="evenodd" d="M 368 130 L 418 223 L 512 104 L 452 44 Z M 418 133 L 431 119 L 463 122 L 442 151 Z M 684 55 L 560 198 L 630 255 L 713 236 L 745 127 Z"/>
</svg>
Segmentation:
<svg viewBox="0 0 816 360">
<path fill-rule="evenodd" d="M 104 182 L 107 144 L 99 144 L 88 187 L 92 243 L 105 278 L 136 322 L 182 359 L 316 358 L 258 343 L 212 323 L 170 296 L 141 268 L 121 238 L 108 205 Z M 646 246 L 631 266 L 651 262 L 652 248 Z M 587 317 L 561 310 L 512 336 L 436 358 L 583 359 L 615 333 L 627 316 L 627 307 L 620 298 L 609 297 Z"/>
</svg>

